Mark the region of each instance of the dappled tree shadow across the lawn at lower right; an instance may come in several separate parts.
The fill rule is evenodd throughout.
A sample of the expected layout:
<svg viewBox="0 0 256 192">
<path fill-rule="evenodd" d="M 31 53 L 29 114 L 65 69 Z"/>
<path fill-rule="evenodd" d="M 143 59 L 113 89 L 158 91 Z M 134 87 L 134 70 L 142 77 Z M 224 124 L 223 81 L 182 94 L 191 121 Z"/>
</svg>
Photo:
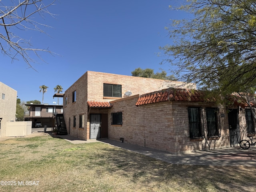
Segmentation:
<svg viewBox="0 0 256 192">
<path fill-rule="evenodd" d="M 104 148 L 94 164 L 106 166 L 109 174 L 116 173 L 145 186 L 152 182 L 176 183 L 187 190 L 253 191 L 256 179 L 254 167 L 169 164 L 120 148 Z"/>
</svg>

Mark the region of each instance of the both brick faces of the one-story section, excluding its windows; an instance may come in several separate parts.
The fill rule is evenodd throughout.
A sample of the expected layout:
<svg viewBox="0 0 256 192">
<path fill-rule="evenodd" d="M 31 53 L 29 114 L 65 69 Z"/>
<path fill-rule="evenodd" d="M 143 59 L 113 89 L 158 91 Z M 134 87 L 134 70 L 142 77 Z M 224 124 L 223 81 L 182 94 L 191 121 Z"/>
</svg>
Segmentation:
<svg viewBox="0 0 256 192">
<path fill-rule="evenodd" d="M 230 146 L 228 116 L 226 109 L 202 102 L 160 102 L 135 106 L 138 96 L 111 102 L 111 113 L 122 112 L 122 126 L 109 123 L 109 138 L 140 146 L 156 148 L 174 154 Z M 191 140 L 189 134 L 188 110 L 191 106 L 203 108 L 204 138 Z M 207 137 L 206 107 L 218 107 L 220 117 L 219 138 Z"/>
</svg>

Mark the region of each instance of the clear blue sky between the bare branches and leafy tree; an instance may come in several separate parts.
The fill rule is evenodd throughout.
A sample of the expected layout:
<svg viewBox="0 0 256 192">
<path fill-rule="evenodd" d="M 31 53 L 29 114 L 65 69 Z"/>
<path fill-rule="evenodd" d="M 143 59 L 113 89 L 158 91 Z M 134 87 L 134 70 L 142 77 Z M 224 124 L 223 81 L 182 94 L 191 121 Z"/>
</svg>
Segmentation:
<svg viewBox="0 0 256 192">
<path fill-rule="evenodd" d="M 57 102 L 54 87 L 63 92 L 86 71 L 131 75 L 135 68 L 160 68 L 164 56 L 159 46 L 171 44 L 164 27 L 181 12 L 170 10 L 178 6 L 175 0 L 60 0 L 49 8 L 55 18 L 43 21 L 50 35 L 26 31 L 34 48 L 49 48 L 58 55 L 42 53 L 47 63 L 38 60 L 28 68 L 22 60 L 14 61 L 0 54 L 0 81 L 18 92 L 22 101 L 40 100 L 39 86 L 49 88 L 44 103 Z M 35 18 L 38 19 L 38 18 Z M 39 18 L 42 20 L 41 18 Z M 169 75 L 169 74 L 168 74 Z M 62 100 L 60 103 L 62 104 Z"/>
</svg>

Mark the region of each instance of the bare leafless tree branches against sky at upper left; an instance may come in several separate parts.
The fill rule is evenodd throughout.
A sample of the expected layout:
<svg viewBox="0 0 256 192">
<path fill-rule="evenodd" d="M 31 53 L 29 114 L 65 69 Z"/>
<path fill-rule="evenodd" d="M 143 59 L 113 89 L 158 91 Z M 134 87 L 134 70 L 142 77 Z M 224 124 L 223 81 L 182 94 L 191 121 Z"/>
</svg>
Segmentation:
<svg viewBox="0 0 256 192">
<path fill-rule="evenodd" d="M 45 2 L 47 4 L 45 4 Z M 40 60 L 45 62 L 40 56 L 39 52 L 48 52 L 56 54 L 47 49 L 33 48 L 30 40 L 22 38 L 14 31 L 20 30 L 34 30 L 47 34 L 41 27 L 50 26 L 36 21 L 36 16 L 44 18 L 44 14 L 50 15 L 54 18 L 55 14 L 48 11 L 48 7 L 54 5 L 55 0 L 12 0 L 3 2 L 0 0 L 0 28 L 4 28 L 6 34 L 0 32 L 0 49 L 2 54 L 9 56 L 13 60 L 18 60 L 21 56 L 30 68 L 33 68 L 31 63 L 36 63 L 32 59 L 30 53 L 33 53 Z M 33 16 L 33 18 L 32 18 Z"/>
</svg>

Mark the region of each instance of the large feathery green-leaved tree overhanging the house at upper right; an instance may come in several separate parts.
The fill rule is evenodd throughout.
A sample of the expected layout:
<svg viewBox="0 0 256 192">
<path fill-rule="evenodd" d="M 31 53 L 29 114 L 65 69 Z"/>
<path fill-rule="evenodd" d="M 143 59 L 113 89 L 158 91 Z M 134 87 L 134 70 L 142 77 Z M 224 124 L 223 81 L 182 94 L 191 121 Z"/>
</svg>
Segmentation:
<svg viewBox="0 0 256 192">
<path fill-rule="evenodd" d="M 226 96 L 254 93 L 256 86 L 255 0 L 187 0 L 174 8 L 190 13 L 166 27 L 172 44 L 160 47 L 184 82 Z"/>
</svg>

